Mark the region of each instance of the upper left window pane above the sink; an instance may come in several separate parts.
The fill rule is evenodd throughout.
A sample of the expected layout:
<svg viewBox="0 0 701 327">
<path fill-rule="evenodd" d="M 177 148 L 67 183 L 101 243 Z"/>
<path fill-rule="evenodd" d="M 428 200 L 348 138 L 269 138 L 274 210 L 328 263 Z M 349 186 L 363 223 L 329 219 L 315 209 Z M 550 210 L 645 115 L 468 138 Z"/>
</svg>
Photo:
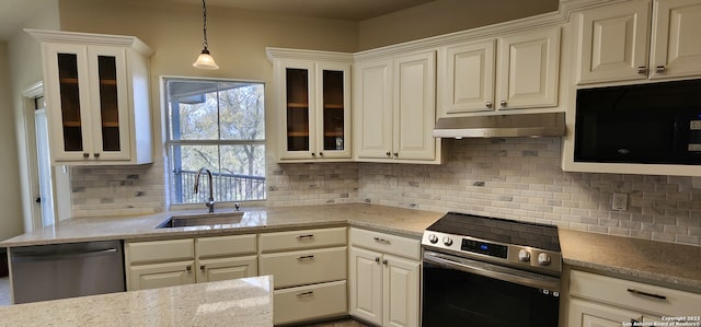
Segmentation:
<svg viewBox="0 0 701 327">
<path fill-rule="evenodd" d="M 217 82 L 169 81 L 171 140 L 219 139 Z"/>
</svg>

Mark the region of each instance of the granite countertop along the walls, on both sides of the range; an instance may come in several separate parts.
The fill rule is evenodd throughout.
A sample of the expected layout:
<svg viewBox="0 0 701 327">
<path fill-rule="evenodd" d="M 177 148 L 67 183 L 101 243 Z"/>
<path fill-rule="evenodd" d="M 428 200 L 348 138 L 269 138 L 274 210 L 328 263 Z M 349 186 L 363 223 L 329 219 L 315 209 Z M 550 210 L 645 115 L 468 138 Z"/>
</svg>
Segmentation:
<svg viewBox="0 0 701 327">
<path fill-rule="evenodd" d="M 443 212 L 368 203 L 246 208 L 241 221 L 234 224 L 156 229 L 173 214 L 204 211 L 70 219 L 0 242 L 0 247 L 216 236 L 347 225 L 418 240 L 426 227 L 444 215 Z M 563 261 L 573 269 L 701 293 L 701 247 L 564 229 L 560 229 L 560 243 Z"/>
</svg>

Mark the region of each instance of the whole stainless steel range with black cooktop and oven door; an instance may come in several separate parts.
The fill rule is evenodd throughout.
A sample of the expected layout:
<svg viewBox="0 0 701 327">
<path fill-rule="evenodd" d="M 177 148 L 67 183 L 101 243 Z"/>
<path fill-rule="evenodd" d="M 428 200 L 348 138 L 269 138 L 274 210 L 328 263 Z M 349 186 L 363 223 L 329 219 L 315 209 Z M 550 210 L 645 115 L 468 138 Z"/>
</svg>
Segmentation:
<svg viewBox="0 0 701 327">
<path fill-rule="evenodd" d="M 448 212 L 422 246 L 422 326 L 558 326 L 556 226 Z"/>
</svg>

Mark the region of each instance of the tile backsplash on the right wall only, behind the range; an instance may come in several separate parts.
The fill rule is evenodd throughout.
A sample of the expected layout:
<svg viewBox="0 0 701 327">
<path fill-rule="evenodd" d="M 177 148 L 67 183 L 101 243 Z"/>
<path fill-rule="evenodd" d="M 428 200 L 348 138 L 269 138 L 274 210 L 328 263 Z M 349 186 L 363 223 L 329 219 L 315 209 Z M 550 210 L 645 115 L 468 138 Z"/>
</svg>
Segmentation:
<svg viewBox="0 0 701 327">
<path fill-rule="evenodd" d="M 692 177 L 566 173 L 560 138 L 445 140 L 447 163 L 360 164 L 361 201 L 461 211 L 564 229 L 701 245 Z M 611 209 L 625 194 L 625 211 Z"/>
</svg>

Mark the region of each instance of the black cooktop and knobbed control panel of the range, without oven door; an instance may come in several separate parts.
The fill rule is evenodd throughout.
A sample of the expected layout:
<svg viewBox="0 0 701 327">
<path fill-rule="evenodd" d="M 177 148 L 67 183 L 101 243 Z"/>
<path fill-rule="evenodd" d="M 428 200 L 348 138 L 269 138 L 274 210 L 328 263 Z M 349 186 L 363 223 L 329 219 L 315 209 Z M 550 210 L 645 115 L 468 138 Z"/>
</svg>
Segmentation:
<svg viewBox="0 0 701 327">
<path fill-rule="evenodd" d="M 562 272 L 554 225 L 448 212 L 424 231 L 422 245 L 525 270 Z"/>
</svg>

